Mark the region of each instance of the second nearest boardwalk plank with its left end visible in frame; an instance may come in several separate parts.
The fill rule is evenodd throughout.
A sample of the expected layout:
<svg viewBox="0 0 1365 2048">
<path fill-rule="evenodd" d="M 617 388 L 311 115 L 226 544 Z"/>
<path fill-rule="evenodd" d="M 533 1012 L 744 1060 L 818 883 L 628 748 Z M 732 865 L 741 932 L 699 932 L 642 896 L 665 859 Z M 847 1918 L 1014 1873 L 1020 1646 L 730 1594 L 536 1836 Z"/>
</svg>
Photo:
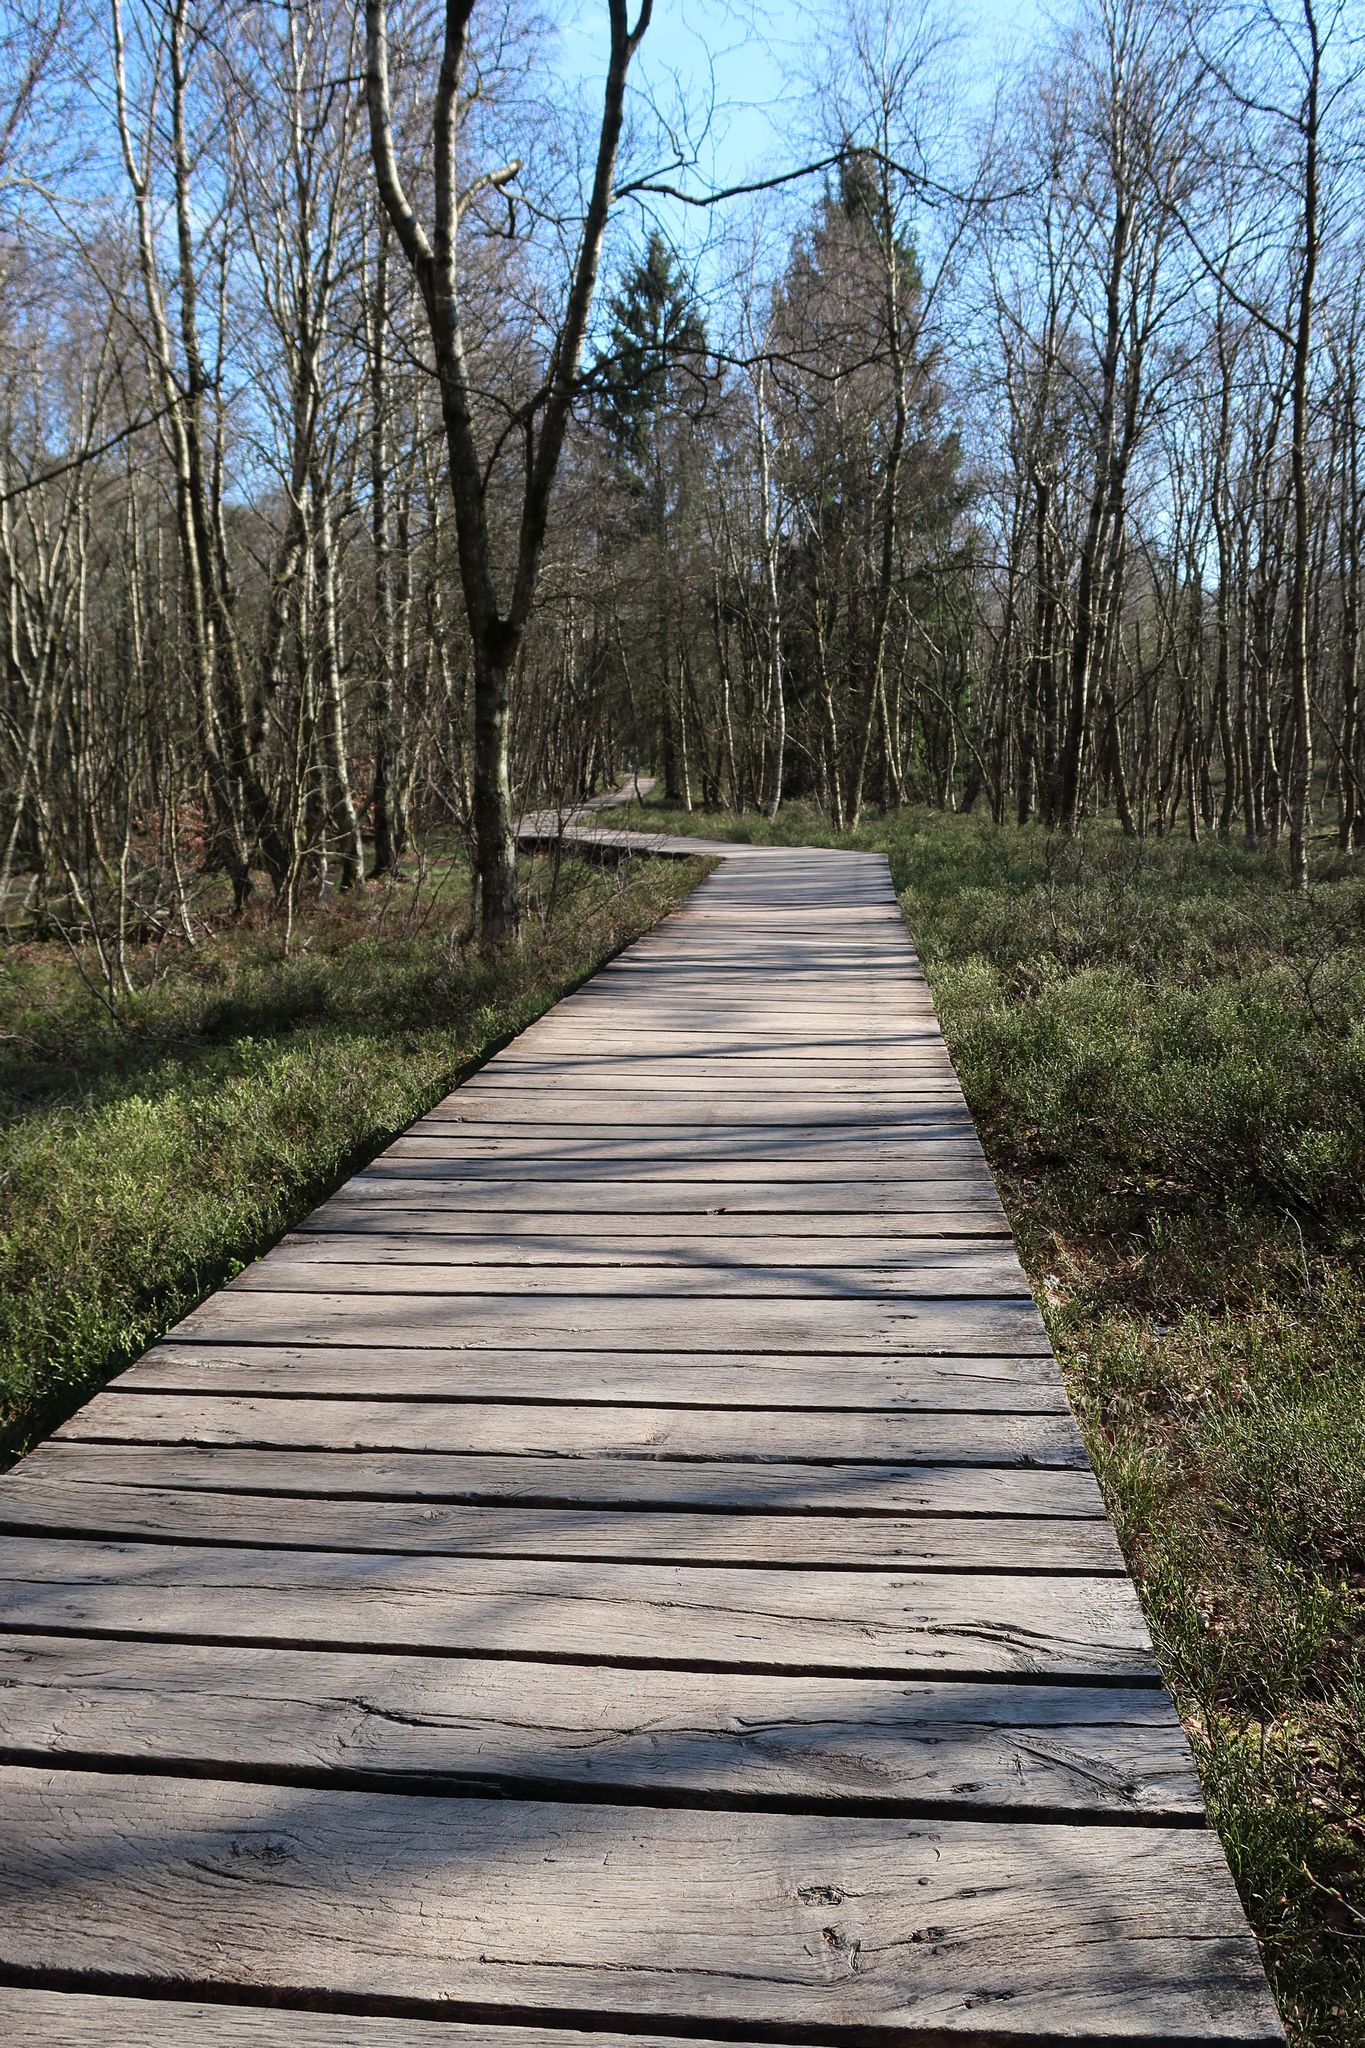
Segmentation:
<svg viewBox="0 0 1365 2048">
<path fill-rule="evenodd" d="M 571 1376 L 561 1374 L 561 1393 Z M 802 1464 L 1062 1464 L 1083 1468 L 1070 1415 L 673 1409 L 569 1401 L 309 1401 L 125 1395 L 86 1401 L 55 1442 L 301 1450 L 448 1450 L 538 1458 L 710 1458 Z"/>
</svg>

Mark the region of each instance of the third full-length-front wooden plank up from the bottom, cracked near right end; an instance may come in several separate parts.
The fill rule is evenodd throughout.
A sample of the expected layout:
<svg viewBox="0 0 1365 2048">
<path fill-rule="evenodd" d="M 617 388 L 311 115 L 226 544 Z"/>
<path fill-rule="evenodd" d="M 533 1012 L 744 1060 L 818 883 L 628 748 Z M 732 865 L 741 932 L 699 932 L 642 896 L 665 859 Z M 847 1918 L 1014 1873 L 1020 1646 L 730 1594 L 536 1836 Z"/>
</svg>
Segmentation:
<svg viewBox="0 0 1365 2048">
<path fill-rule="evenodd" d="M 532 1661 L 1156 1679 L 1128 1579 L 0 1536 L 0 1628 Z"/>
</svg>

